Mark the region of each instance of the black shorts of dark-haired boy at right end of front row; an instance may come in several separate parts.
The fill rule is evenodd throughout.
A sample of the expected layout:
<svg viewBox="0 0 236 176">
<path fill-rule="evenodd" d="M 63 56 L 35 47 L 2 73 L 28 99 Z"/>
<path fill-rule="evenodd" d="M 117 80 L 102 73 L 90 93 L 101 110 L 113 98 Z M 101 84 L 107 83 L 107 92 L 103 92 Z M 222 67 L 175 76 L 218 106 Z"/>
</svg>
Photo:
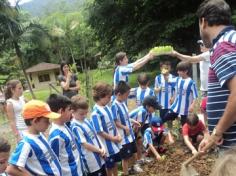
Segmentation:
<svg viewBox="0 0 236 176">
<path fill-rule="evenodd" d="M 120 149 L 121 159 L 128 159 L 133 156 L 134 153 L 137 153 L 136 142 L 131 142 L 125 145 L 122 145 Z"/>
</svg>

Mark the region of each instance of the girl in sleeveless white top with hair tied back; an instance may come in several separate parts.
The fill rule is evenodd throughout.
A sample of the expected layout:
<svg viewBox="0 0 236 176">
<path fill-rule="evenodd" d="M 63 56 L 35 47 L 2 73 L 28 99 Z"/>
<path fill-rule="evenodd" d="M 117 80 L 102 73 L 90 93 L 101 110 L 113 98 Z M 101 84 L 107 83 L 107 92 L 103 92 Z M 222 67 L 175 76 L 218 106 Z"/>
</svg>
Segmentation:
<svg viewBox="0 0 236 176">
<path fill-rule="evenodd" d="M 7 82 L 5 90 L 7 116 L 17 142 L 22 138 L 24 131 L 27 129 L 21 114 L 25 104 L 22 94 L 23 88 L 19 80 L 10 80 Z"/>
</svg>

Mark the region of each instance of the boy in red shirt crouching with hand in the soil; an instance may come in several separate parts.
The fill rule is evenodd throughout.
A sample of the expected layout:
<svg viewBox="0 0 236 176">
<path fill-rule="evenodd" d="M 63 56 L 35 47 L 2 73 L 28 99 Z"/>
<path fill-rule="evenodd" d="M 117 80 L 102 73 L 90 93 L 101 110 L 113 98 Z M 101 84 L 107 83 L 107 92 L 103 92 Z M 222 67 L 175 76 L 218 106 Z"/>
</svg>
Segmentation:
<svg viewBox="0 0 236 176">
<path fill-rule="evenodd" d="M 199 120 L 197 114 L 189 114 L 187 121 L 182 128 L 184 143 L 192 151 L 192 154 L 197 153 L 194 146 L 199 145 L 205 135 L 208 135 L 208 130 L 203 122 Z"/>
</svg>

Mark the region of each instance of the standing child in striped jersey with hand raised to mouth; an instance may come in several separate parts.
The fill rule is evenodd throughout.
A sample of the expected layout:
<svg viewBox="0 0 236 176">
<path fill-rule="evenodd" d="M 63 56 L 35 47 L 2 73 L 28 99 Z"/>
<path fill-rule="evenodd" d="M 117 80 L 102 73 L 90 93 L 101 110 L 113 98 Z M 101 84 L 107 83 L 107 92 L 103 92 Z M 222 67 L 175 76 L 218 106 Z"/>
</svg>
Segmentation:
<svg viewBox="0 0 236 176">
<path fill-rule="evenodd" d="M 162 106 L 160 109 L 160 117 L 164 118 L 173 103 L 174 96 L 174 86 L 172 84 L 174 76 L 170 73 L 170 61 L 160 62 L 160 70 L 161 74 L 157 75 L 155 78 L 155 93 L 157 95 L 157 101 Z"/>
</svg>

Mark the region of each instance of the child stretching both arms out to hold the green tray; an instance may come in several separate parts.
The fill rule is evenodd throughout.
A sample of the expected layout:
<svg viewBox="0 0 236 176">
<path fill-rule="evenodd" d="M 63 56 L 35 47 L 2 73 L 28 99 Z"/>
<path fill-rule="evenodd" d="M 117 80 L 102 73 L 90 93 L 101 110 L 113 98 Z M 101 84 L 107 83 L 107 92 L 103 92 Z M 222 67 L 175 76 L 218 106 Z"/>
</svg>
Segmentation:
<svg viewBox="0 0 236 176">
<path fill-rule="evenodd" d="M 144 66 L 148 61 L 152 60 L 154 56 L 151 53 L 148 53 L 146 56 L 141 59 L 136 60 L 135 62 L 128 64 L 129 59 L 125 52 L 119 52 L 115 56 L 115 71 L 114 71 L 114 89 L 119 81 L 125 81 L 128 83 L 129 74 L 135 70 L 138 70 Z"/>
</svg>

